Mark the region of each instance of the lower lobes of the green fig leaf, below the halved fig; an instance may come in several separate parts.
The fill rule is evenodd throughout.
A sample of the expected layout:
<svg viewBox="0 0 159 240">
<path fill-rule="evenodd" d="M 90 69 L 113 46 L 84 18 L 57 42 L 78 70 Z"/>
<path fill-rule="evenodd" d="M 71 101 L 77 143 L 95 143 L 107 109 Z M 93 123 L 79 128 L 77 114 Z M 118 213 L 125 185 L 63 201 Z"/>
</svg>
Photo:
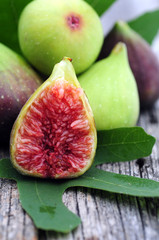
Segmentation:
<svg viewBox="0 0 159 240">
<path fill-rule="evenodd" d="M 22 207 L 35 225 L 44 230 L 69 232 L 80 219 L 62 203 L 67 188 L 89 187 L 140 197 L 159 197 L 159 182 L 91 168 L 83 176 L 65 181 L 24 177 L 11 166 L 9 159 L 0 161 L 0 176 L 17 181 Z"/>
</svg>

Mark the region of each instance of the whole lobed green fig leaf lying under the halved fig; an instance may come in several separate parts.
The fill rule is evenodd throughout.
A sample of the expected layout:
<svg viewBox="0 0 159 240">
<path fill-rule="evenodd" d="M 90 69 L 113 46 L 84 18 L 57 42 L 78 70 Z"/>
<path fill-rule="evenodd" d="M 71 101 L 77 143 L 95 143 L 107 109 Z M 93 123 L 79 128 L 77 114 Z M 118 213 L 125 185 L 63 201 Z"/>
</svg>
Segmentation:
<svg viewBox="0 0 159 240">
<path fill-rule="evenodd" d="M 140 127 L 99 132 L 98 151 L 92 168 L 71 180 L 43 180 L 19 174 L 9 159 L 0 161 L 0 177 L 17 182 L 22 207 L 37 228 L 69 232 L 80 224 L 80 219 L 62 202 L 64 191 L 82 186 L 140 197 L 159 197 L 159 182 L 121 175 L 95 168 L 105 162 L 126 161 L 148 156 L 155 143 L 154 137 Z"/>
</svg>

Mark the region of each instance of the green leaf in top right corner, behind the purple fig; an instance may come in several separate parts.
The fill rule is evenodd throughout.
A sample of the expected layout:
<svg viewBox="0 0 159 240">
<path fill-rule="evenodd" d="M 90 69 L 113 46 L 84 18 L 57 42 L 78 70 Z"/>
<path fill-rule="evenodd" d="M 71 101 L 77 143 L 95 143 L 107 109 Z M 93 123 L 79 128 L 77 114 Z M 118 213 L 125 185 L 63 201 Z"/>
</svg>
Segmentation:
<svg viewBox="0 0 159 240">
<path fill-rule="evenodd" d="M 159 10 L 145 13 L 130 21 L 129 25 L 151 44 L 159 30 Z"/>
</svg>

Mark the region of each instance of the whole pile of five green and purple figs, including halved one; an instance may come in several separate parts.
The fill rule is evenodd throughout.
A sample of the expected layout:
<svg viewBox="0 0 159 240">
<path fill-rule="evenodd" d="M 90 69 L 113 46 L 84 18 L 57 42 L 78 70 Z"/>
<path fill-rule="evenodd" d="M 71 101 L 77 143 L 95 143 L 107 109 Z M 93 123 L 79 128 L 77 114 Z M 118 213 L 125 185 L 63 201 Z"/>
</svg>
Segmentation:
<svg viewBox="0 0 159 240">
<path fill-rule="evenodd" d="M 159 97 L 150 46 L 123 22 L 104 40 L 84 0 L 30 2 L 18 36 L 26 60 L 0 44 L 0 133 L 8 141 L 11 132 L 11 161 L 24 175 L 80 176 L 93 162 L 96 131 L 135 126 L 140 106 Z"/>
</svg>

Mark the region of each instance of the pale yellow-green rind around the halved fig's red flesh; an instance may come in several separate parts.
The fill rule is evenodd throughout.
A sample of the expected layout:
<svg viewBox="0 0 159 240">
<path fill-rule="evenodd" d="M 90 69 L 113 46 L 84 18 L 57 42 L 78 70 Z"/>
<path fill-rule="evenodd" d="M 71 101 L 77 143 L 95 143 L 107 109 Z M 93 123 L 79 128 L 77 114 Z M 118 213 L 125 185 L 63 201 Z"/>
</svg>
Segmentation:
<svg viewBox="0 0 159 240">
<path fill-rule="evenodd" d="M 97 133 L 96 133 L 96 127 L 95 127 L 95 122 L 94 122 L 94 118 L 93 118 L 93 113 L 92 113 L 92 110 L 90 108 L 88 99 L 87 99 L 85 93 L 83 92 L 83 90 L 81 89 L 80 84 L 79 84 L 79 82 L 76 78 L 73 66 L 72 66 L 70 61 L 71 61 L 70 58 L 65 57 L 60 63 L 55 65 L 51 76 L 29 98 L 29 100 L 23 106 L 21 112 L 19 113 L 19 116 L 17 117 L 17 119 L 14 123 L 14 126 L 12 128 L 12 132 L 11 132 L 11 138 L 10 138 L 11 162 L 12 162 L 13 166 L 23 175 L 40 177 L 40 178 L 56 178 L 56 179 L 58 179 L 58 178 L 75 178 L 75 177 L 78 177 L 78 176 L 82 175 L 85 171 L 87 171 L 93 163 L 95 152 L 96 152 L 96 147 L 97 147 Z M 39 98 L 39 96 L 42 93 L 44 93 L 48 87 L 53 88 L 54 86 L 56 86 L 58 81 L 61 81 L 61 83 L 66 82 L 68 85 L 71 85 L 71 86 L 73 86 L 77 89 L 81 89 L 80 90 L 81 91 L 80 99 L 83 103 L 83 108 L 85 109 L 85 114 L 86 114 L 87 120 L 89 122 L 90 136 L 91 136 L 91 139 L 93 140 L 93 142 L 91 143 L 92 148 L 91 148 L 91 154 L 89 156 L 88 162 L 83 168 L 79 169 L 79 171 L 68 172 L 67 175 L 66 174 L 62 175 L 62 173 L 61 173 L 61 174 L 56 174 L 55 176 L 44 176 L 42 173 L 36 172 L 36 170 L 33 169 L 33 168 L 28 170 L 28 169 L 25 169 L 22 166 L 20 166 L 20 164 L 18 164 L 18 162 L 16 160 L 16 156 L 17 156 L 17 147 L 16 146 L 17 146 L 17 141 L 19 141 L 19 139 L 21 137 L 20 134 L 19 134 L 19 132 L 21 131 L 20 128 L 24 127 L 24 122 L 26 121 L 25 116 L 28 114 L 31 107 L 32 106 L 33 106 L 33 108 L 35 107 L 35 100 L 37 100 Z M 46 94 L 48 94 L 48 92 L 46 92 Z M 41 100 L 42 99 L 40 99 L 40 101 Z M 47 108 L 47 106 L 46 106 L 46 108 Z M 38 112 L 39 111 L 40 110 L 38 110 Z M 60 119 L 60 118 L 58 118 L 58 119 Z M 37 119 L 37 121 L 38 120 L 39 120 L 39 118 Z M 42 125 L 43 125 L 43 123 L 42 123 Z M 41 129 L 42 129 L 42 127 L 41 127 Z M 69 128 L 67 128 L 67 129 L 69 129 Z M 36 129 L 35 129 L 35 131 L 36 131 Z M 54 134 L 53 131 L 50 132 L 50 133 Z M 79 134 L 79 132 L 77 134 Z M 44 137 L 46 137 L 46 136 L 44 136 Z M 23 139 L 23 140 L 25 140 L 25 139 Z M 39 141 L 40 141 L 39 136 L 37 136 L 36 141 L 37 141 L 36 143 L 39 144 Z M 18 144 L 19 144 L 19 142 L 18 142 Z M 24 143 L 24 145 L 25 144 L 26 144 L 26 148 L 27 148 L 27 151 L 28 151 L 30 143 Z M 31 144 L 30 146 L 32 148 L 32 146 L 34 146 L 34 142 L 33 142 L 33 145 Z M 29 150 L 30 153 L 32 152 L 31 148 Z M 44 149 L 44 151 L 45 150 L 46 149 Z M 52 146 L 51 151 L 54 151 L 54 150 L 55 150 L 55 146 Z M 31 160 L 29 159 L 29 161 L 31 161 Z M 62 161 L 62 159 L 59 157 L 59 164 L 60 164 L 60 161 Z"/>
</svg>

